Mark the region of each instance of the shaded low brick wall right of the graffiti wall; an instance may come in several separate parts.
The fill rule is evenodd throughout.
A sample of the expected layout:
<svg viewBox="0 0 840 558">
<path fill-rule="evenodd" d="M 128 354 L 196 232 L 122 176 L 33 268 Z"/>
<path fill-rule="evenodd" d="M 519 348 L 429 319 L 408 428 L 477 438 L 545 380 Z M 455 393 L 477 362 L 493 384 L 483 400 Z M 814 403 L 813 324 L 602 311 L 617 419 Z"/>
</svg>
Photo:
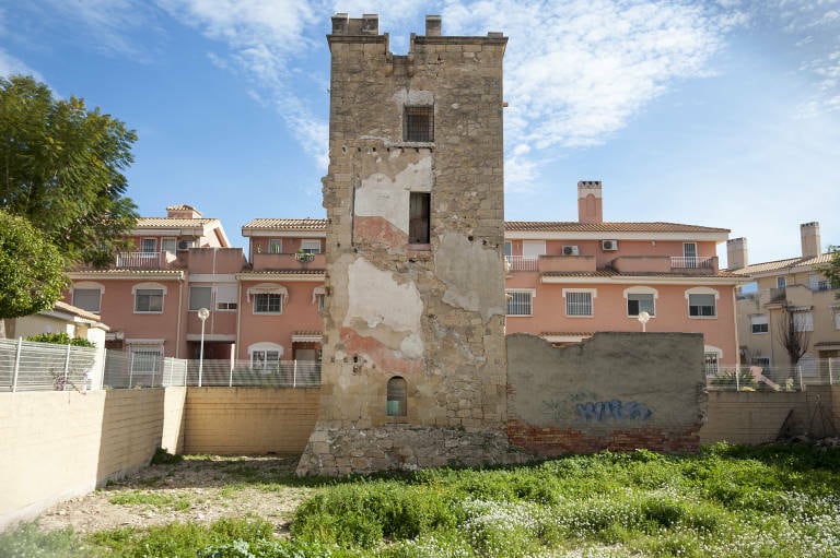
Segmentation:
<svg viewBox="0 0 840 558">
<path fill-rule="evenodd" d="M 806 391 L 791 393 L 711 391 L 709 419 L 700 429 L 700 441 L 756 444 L 775 441 L 780 435 L 832 435 L 828 419 L 833 414 L 833 425 L 838 426 L 838 392 L 837 385 L 809 385 Z"/>
</svg>

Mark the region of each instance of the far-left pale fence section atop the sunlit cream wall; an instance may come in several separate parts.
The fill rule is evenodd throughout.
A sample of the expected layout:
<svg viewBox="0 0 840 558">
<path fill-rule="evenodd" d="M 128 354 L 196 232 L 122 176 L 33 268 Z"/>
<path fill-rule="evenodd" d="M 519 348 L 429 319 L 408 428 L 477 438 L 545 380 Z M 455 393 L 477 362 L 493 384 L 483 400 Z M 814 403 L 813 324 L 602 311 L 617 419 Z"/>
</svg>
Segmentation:
<svg viewBox="0 0 840 558">
<path fill-rule="evenodd" d="M 97 348 L 0 340 L 0 391 L 100 389 L 102 360 Z"/>
</svg>

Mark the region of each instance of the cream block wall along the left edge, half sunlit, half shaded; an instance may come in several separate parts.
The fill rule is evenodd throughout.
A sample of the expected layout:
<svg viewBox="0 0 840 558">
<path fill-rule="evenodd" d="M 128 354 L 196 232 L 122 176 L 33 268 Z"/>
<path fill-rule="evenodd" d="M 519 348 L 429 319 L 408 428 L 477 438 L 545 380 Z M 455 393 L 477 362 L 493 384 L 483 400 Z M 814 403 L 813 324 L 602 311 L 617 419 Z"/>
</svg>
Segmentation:
<svg viewBox="0 0 840 558">
<path fill-rule="evenodd" d="M 149 463 L 165 390 L 0 393 L 0 529 Z"/>
</svg>

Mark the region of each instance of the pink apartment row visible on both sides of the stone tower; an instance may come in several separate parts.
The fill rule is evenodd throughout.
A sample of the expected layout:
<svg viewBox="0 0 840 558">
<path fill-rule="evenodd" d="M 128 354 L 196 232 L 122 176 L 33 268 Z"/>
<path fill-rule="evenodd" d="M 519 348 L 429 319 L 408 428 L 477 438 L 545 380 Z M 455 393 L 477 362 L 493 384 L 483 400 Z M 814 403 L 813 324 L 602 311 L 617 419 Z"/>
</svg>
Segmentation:
<svg viewBox="0 0 840 558">
<path fill-rule="evenodd" d="M 555 344 L 596 331 L 702 333 L 707 366 L 738 361 L 735 286 L 721 271 L 724 228 L 603 221 L 600 182 L 578 185 L 578 222 L 508 222 L 506 333 Z M 205 359 L 269 367 L 319 361 L 326 219 L 256 218 L 242 227 L 247 259 L 221 223 L 189 205 L 139 219 L 136 250 L 108 270 L 70 274 L 67 301 L 101 314 L 108 348 L 147 358 Z M 135 361 L 135 359 L 132 359 Z M 147 364 L 143 364 L 147 363 Z M 138 370 L 142 371 L 142 370 Z"/>
</svg>

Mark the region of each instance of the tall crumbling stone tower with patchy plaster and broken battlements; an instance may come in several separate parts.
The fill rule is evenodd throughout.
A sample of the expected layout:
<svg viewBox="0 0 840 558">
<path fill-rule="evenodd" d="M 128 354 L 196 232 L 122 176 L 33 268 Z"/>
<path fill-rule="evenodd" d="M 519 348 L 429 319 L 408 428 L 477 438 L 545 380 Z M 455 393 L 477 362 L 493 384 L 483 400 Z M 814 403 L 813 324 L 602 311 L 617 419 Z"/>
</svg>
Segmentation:
<svg viewBox="0 0 840 558">
<path fill-rule="evenodd" d="M 300 474 L 504 459 L 502 57 L 441 36 L 407 56 L 332 17 L 327 309 Z"/>
</svg>

